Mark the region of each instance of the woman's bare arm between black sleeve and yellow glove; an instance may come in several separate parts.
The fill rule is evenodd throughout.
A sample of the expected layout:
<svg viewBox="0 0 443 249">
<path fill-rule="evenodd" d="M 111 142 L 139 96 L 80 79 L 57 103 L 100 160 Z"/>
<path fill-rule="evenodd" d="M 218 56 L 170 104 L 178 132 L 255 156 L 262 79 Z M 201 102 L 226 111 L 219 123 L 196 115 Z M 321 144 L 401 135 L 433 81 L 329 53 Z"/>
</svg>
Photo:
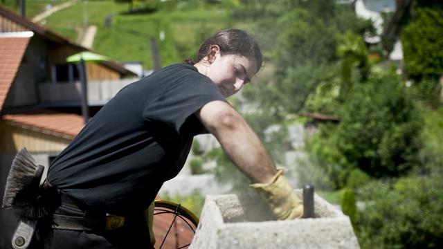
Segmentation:
<svg viewBox="0 0 443 249">
<path fill-rule="evenodd" d="M 229 104 L 209 102 L 195 114 L 252 183 L 267 183 L 277 173 L 260 138 Z"/>
</svg>

